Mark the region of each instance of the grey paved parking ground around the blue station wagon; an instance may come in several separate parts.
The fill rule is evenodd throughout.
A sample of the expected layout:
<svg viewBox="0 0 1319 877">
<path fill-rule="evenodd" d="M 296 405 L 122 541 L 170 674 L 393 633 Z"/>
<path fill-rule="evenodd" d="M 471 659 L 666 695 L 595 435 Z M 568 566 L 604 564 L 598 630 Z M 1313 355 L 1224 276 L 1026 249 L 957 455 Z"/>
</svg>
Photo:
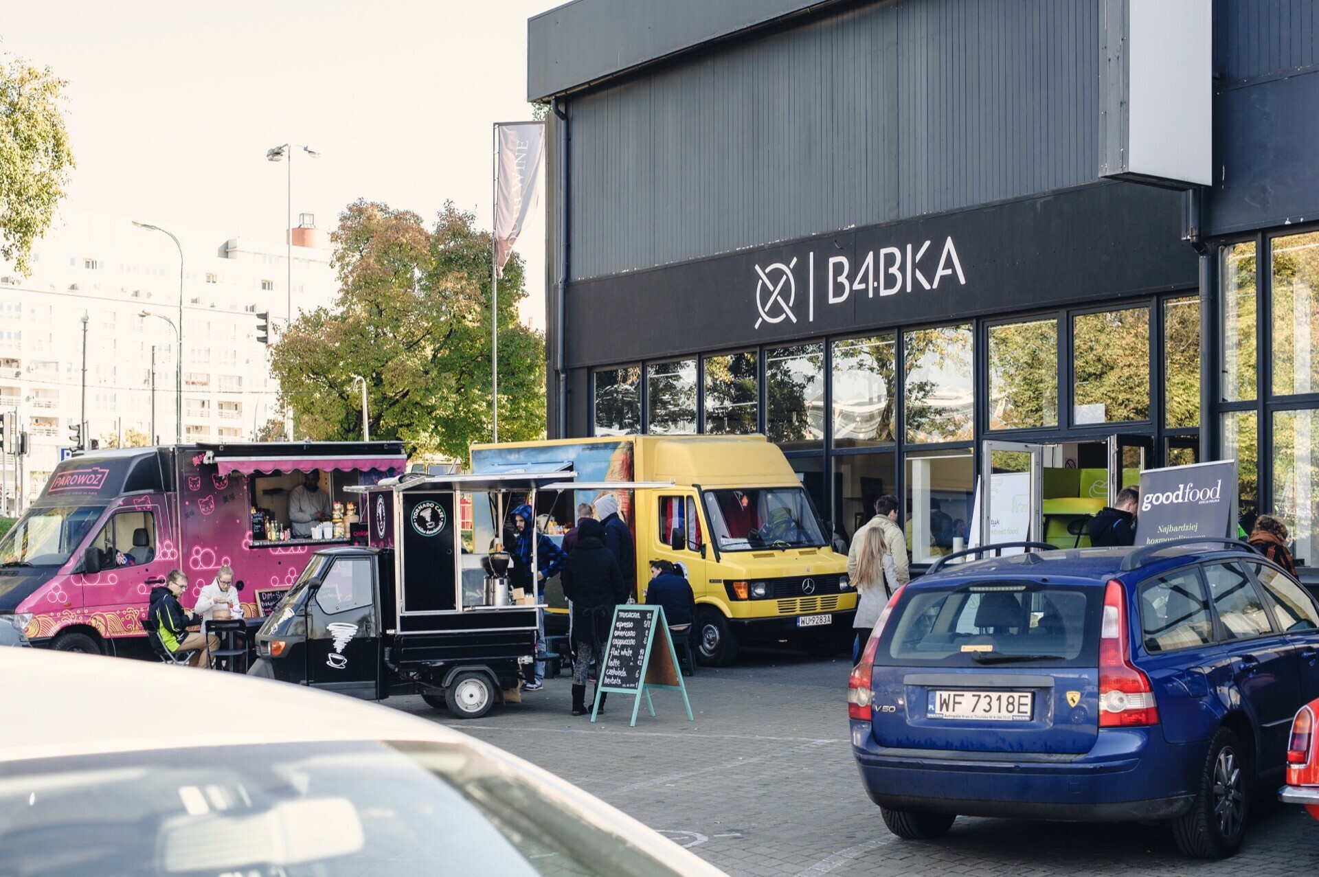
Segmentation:
<svg viewBox="0 0 1319 877">
<path fill-rule="evenodd" d="M 1319 822 L 1257 808 L 1245 845 L 1221 862 L 1183 859 L 1162 826 L 959 818 L 934 843 L 898 840 L 865 797 L 848 745 L 845 659 L 749 653 L 653 695 L 628 728 L 630 698 L 609 695 L 592 725 L 568 715 L 567 675 L 475 721 L 421 698 L 394 708 L 508 749 L 689 847 L 729 874 L 1319 874 Z M 627 708 L 625 708 L 627 707 Z"/>
</svg>

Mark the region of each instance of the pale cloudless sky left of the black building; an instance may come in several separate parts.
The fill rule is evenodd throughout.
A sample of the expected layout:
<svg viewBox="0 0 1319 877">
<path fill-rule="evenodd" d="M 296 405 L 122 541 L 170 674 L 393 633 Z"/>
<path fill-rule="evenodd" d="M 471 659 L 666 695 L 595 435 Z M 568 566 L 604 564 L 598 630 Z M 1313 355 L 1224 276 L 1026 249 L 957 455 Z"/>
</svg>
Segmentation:
<svg viewBox="0 0 1319 877">
<path fill-rule="evenodd" d="M 69 80 L 65 206 L 227 236 L 328 232 L 356 198 L 489 228 L 492 124 L 530 119 L 526 20 L 562 0 L 0 0 L 0 51 Z M 517 252 L 545 328 L 545 198 Z"/>
</svg>

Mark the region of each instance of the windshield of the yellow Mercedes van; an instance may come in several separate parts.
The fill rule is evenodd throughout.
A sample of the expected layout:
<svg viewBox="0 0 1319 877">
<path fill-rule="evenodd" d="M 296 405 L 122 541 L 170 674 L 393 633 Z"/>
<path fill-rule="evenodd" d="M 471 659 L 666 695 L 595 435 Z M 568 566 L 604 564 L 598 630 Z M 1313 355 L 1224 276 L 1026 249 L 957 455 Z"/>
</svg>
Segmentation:
<svg viewBox="0 0 1319 877">
<path fill-rule="evenodd" d="M 706 491 L 704 500 L 721 551 L 826 543 L 806 491 L 799 487 Z"/>
</svg>

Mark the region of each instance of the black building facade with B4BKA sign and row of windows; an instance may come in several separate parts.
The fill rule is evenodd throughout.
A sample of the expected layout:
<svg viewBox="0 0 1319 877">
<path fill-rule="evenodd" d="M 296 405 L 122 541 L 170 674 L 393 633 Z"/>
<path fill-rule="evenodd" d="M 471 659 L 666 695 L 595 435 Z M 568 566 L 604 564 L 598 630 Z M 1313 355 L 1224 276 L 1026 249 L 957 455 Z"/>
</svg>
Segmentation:
<svg viewBox="0 0 1319 877">
<path fill-rule="evenodd" d="M 1119 0 L 533 18 L 550 435 L 765 433 L 843 537 L 878 493 L 966 528 L 987 440 L 1236 458 L 1245 522 L 1314 563 L 1315 5 L 1212 3 L 1213 185 L 1183 190 L 1100 175 Z"/>
</svg>

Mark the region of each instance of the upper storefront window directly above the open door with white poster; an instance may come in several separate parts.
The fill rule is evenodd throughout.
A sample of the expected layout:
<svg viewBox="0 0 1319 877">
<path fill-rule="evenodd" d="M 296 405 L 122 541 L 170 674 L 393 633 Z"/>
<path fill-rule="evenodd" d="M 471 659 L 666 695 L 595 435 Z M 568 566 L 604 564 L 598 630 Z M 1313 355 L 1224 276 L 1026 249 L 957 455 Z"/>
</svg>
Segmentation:
<svg viewBox="0 0 1319 877">
<path fill-rule="evenodd" d="M 1058 426 L 1058 320 L 989 327 L 989 429 Z"/>
</svg>

